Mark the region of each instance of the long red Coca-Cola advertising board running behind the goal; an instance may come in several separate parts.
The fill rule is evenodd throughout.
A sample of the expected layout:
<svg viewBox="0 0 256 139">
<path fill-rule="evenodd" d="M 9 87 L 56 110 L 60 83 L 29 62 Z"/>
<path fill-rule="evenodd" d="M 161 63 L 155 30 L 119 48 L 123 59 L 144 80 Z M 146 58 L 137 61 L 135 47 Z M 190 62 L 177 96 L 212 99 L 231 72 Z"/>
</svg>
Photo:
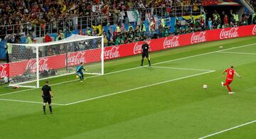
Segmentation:
<svg viewBox="0 0 256 139">
<path fill-rule="evenodd" d="M 256 25 L 239 26 L 233 28 L 223 28 L 218 30 L 206 30 L 196 33 L 188 33 L 183 35 L 174 35 L 166 38 L 158 38 L 148 40 L 151 51 L 164 50 L 169 48 L 181 47 L 184 45 L 193 45 L 214 40 L 224 40 L 230 38 L 239 38 L 249 35 L 256 35 Z M 129 43 L 124 45 L 114 45 L 104 50 L 104 59 L 112 60 L 119 57 L 127 57 L 138 55 L 142 52 L 143 42 Z M 80 52 L 72 52 L 68 57 L 63 55 L 55 55 L 50 57 L 41 57 L 39 62 L 39 70 L 50 70 L 64 68 L 66 66 L 65 59 L 68 58 L 68 66 L 79 65 L 80 62 L 97 62 L 100 61 L 100 49 L 85 50 Z M 91 57 L 87 57 L 90 53 Z M 21 62 L 13 62 L 9 65 L 0 65 L 0 77 L 14 77 L 22 74 L 26 69 L 36 72 L 36 60 L 23 60 Z"/>
</svg>

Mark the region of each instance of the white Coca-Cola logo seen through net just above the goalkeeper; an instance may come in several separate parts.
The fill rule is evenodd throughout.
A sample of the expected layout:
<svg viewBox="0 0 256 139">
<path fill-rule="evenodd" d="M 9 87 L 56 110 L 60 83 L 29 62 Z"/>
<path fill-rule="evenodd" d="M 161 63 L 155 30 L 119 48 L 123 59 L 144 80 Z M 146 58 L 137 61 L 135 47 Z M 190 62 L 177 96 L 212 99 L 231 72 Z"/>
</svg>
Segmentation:
<svg viewBox="0 0 256 139">
<path fill-rule="evenodd" d="M 80 65 L 85 62 L 85 52 L 76 52 L 68 55 L 68 66 Z"/>
</svg>

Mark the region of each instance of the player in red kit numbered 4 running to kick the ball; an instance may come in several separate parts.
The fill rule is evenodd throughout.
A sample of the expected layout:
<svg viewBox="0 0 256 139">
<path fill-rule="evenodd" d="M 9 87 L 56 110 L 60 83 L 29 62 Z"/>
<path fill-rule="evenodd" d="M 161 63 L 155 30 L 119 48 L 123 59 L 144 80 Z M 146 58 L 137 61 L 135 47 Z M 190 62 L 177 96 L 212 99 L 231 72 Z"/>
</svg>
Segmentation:
<svg viewBox="0 0 256 139">
<path fill-rule="evenodd" d="M 224 77 L 225 72 L 227 72 L 227 78 L 226 78 L 225 84 L 223 82 L 221 82 L 221 84 L 222 84 L 222 86 L 228 87 L 228 91 L 229 91 L 228 94 L 233 94 L 234 92 L 231 91 L 231 88 L 229 85 L 233 82 L 234 74 L 238 77 L 240 77 L 240 75 L 237 72 L 235 72 L 233 66 L 231 66 L 227 70 L 223 70 L 223 77 Z"/>
</svg>

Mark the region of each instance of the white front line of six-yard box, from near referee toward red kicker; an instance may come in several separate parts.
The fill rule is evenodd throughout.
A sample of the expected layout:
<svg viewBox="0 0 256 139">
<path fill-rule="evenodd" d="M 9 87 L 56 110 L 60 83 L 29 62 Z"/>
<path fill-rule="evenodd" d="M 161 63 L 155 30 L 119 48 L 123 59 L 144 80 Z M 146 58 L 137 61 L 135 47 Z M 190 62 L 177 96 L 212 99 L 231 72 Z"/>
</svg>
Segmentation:
<svg viewBox="0 0 256 139">
<path fill-rule="evenodd" d="M 137 89 L 143 89 L 143 88 L 146 88 L 146 87 L 152 87 L 152 86 L 159 85 L 159 84 L 165 84 L 167 82 L 174 82 L 174 81 L 177 81 L 177 80 L 180 80 L 180 79 L 186 79 L 186 78 L 189 78 L 189 77 L 196 77 L 198 75 L 207 74 L 207 73 L 210 73 L 210 72 L 215 72 L 215 71 L 203 72 L 203 73 L 199 73 L 199 74 L 189 75 L 189 76 L 186 76 L 186 77 L 170 79 L 170 80 L 167 80 L 167 81 L 164 81 L 164 82 L 158 82 L 158 83 L 155 83 L 155 84 L 149 84 L 149 85 L 145 85 L 145 86 L 142 86 L 142 87 L 137 87 L 137 88 L 134 88 L 134 89 L 118 91 L 118 92 L 111 93 L 111 94 L 106 94 L 106 95 L 103 95 L 103 96 L 97 96 L 97 97 L 93 97 L 93 98 L 90 98 L 90 99 L 85 99 L 85 100 L 82 100 L 82 101 L 72 102 L 72 103 L 69 103 L 69 104 L 66 104 L 66 105 L 68 106 L 68 105 L 78 104 L 78 103 L 85 102 L 85 101 L 91 101 L 91 100 L 94 100 L 94 99 L 100 99 L 100 98 L 107 97 L 107 96 L 113 96 L 115 94 L 122 94 L 122 93 L 125 93 L 127 91 L 134 91 L 134 90 L 137 90 Z"/>
</svg>

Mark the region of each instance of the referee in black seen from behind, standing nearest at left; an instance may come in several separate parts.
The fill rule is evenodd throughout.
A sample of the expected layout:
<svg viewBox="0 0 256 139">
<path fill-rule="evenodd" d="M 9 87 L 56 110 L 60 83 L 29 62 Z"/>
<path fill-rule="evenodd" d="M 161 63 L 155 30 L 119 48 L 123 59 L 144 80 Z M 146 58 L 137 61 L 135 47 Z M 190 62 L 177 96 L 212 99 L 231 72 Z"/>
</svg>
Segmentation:
<svg viewBox="0 0 256 139">
<path fill-rule="evenodd" d="M 51 107 L 51 99 L 53 99 L 53 93 L 49 86 L 49 81 L 46 80 L 46 85 L 42 87 L 42 97 L 43 97 L 43 113 L 46 114 L 46 103 L 49 104 L 50 113 L 53 113 L 53 109 Z"/>
</svg>

